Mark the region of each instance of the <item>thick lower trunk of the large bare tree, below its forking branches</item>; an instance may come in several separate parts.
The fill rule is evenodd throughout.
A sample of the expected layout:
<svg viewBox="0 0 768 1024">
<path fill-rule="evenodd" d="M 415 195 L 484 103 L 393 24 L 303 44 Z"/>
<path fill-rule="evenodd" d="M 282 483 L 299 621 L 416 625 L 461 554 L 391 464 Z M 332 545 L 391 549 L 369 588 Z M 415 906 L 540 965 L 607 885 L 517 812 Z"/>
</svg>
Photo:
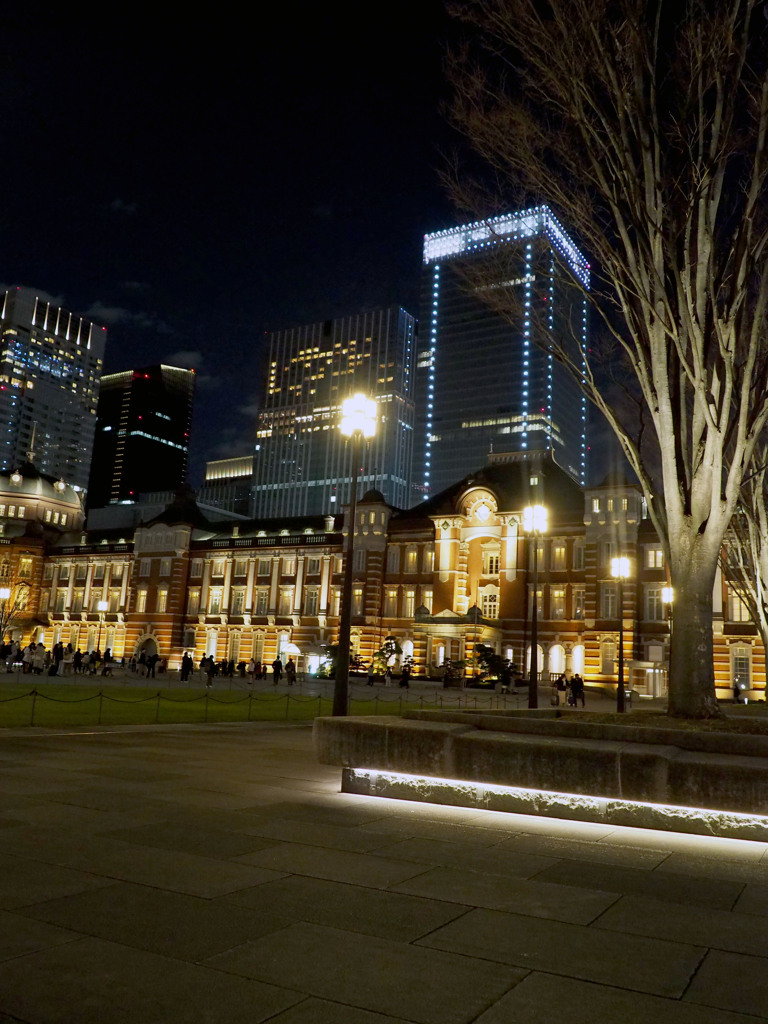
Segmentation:
<svg viewBox="0 0 768 1024">
<path fill-rule="evenodd" d="M 695 553 L 702 554 L 700 549 Z M 716 570 L 717 559 L 709 558 L 692 558 L 689 565 L 677 571 L 673 567 L 672 570 L 675 602 L 670 658 L 670 715 L 686 718 L 720 716 L 715 696 L 712 640 L 712 595 Z"/>
</svg>

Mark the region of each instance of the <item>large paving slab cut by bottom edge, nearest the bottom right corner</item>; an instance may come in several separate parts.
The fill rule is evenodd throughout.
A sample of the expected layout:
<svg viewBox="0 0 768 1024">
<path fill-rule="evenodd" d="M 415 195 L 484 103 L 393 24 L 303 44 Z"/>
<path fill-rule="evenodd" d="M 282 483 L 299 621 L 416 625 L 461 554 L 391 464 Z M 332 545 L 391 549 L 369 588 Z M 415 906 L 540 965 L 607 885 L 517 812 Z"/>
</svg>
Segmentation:
<svg viewBox="0 0 768 1024">
<path fill-rule="evenodd" d="M 755 1018 L 592 982 L 529 974 L 476 1024 L 756 1024 Z"/>
</svg>

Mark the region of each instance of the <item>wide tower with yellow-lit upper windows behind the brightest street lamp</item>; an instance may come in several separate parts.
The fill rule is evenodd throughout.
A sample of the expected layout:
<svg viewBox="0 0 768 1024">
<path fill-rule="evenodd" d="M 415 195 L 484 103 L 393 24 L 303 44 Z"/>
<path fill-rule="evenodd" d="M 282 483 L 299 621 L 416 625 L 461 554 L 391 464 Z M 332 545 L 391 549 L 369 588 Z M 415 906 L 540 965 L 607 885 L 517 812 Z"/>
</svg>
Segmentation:
<svg viewBox="0 0 768 1024">
<path fill-rule="evenodd" d="M 340 511 L 351 483 L 339 431 L 341 402 L 364 391 L 378 402 L 360 487 L 411 504 L 416 321 L 398 306 L 274 332 L 259 417 L 254 514 Z"/>
</svg>

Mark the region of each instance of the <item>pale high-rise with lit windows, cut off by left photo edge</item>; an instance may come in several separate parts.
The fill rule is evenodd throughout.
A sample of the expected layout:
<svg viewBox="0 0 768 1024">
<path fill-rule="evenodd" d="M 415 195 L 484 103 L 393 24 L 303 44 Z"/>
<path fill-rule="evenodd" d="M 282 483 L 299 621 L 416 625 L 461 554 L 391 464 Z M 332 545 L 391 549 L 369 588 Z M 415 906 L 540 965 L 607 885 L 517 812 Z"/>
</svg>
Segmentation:
<svg viewBox="0 0 768 1024">
<path fill-rule="evenodd" d="M 0 470 L 38 470 L 85 487 L 106 329 L 27 288 L 0 293 Z"/>
</svg>

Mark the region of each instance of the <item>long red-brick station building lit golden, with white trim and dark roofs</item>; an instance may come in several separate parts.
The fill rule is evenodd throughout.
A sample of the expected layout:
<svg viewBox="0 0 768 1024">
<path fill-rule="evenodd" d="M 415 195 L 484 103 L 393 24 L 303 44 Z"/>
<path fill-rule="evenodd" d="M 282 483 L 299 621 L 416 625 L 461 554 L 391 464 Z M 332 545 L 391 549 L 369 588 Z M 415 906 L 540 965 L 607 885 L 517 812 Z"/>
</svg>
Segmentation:
<svg viewBox="0 0 768 1024">
<path fill-rule="evenodd" d="M 15 481 L 0 474 L 0 586 L 32 585 L 15 639 L 100 644 L 118 658 L 157 651 L 171 671 L 184 651 L 197 663 L 207 653 L 269 664 L 288 648 L 300 673 L 338 642 L 348 510 L 214 521 L 179 494 L 148 521 L 83 529 L 78 496 L 57 482 L 34 468 Z M 525 532 L 530 504 L 548 510 L 537 539 Z M 623 607 L 617 554 L 630 563 Z M 415 682 L 450 671 L 461 685 L 482 643 L 526 674 L 536 599 L 542 701 L 562 671 L 615 692 L 620 637 L 638 698 L 666 692 L 664 552 L 639 488 L 624 479 L 584 490 L 551 453 L 531 453 L 494 458 L 411 509 L 372 488 L 357 504 L 353 567 L 351 647 L 364 662 L 395 637 Z M 764 699 L 760 639 L 722 579 L 714 611 L 719 696 L 738 678 Z"/>
</svg>

